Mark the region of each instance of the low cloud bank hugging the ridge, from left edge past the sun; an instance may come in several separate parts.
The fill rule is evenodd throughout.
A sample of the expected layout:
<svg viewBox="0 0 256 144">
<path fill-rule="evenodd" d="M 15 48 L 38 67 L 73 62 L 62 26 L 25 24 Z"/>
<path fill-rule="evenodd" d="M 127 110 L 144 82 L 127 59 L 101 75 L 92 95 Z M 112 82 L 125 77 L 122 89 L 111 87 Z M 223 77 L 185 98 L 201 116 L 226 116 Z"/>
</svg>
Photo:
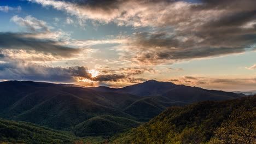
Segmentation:
<svg viewBox="0 0 256 144">
<path fill-rule="evenodd" d="M 0 79 L 72 82 L 84 86 L 98 86 L 103 82 L 104 85 L 115 87 L 146 81 L 146 79 L 115 73 L 99 74 L 96 77 L 92 77 L 90 70 L 83 66 L 51 67 L 49 65 L 20 61 L 0 62 Z"/>
</svg>

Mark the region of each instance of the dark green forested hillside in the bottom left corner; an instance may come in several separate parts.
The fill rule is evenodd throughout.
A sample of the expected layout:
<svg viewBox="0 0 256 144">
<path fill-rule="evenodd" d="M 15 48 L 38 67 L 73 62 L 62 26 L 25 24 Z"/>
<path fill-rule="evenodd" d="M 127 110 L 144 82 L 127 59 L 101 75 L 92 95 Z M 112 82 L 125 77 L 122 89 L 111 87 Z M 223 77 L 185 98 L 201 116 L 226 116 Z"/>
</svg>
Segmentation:
<svg viewBox="0 0 256 144">
<path fill-rule="evenodd" d="M 75 137 L 66 131 L 40 127 L 32 123 L 0 118 L 0 143 L 74 143 Z"/>
</svg>

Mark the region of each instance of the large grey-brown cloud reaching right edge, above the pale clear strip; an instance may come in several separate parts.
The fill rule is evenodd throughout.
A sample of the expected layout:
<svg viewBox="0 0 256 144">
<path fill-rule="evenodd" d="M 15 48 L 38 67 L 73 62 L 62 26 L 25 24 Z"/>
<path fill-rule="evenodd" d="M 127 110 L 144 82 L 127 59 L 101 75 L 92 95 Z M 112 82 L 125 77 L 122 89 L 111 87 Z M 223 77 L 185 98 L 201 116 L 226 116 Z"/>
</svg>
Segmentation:
<svg viewBox="0 0 256 144">
<path fill-rule="evenodd" d="M 248 33 L 252 33 L 253 31 Z M 255 31 L 256 32 L 256 31 Z M 215 38 L 198 40 L 194 37 L 183 41 L 168 33 L 144 32 L 133 35 L 127 44 L 117 47 L 126 52 L 124 59 L 136 63 L 175 63 L 196 58 L 217 57 L 253 50 L 255 34 L 216 35 Z M 213 37 L 209 35 L 209 37 Z M 124 51 L 125 50 L 125 51 Z"/>
</svg>

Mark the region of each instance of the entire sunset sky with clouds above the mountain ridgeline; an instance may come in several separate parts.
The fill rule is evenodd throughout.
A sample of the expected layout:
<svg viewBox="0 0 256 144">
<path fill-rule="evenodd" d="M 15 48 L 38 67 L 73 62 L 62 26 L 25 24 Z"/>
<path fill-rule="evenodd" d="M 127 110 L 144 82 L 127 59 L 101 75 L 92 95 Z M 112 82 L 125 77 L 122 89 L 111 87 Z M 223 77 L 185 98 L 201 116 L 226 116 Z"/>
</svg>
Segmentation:
<svg viewBox="0 0 256 144">
<path fill-rule="evenodd" d="M 1 0 L 0 81 L 256 89 L 254 0 Z"/>
</svg>

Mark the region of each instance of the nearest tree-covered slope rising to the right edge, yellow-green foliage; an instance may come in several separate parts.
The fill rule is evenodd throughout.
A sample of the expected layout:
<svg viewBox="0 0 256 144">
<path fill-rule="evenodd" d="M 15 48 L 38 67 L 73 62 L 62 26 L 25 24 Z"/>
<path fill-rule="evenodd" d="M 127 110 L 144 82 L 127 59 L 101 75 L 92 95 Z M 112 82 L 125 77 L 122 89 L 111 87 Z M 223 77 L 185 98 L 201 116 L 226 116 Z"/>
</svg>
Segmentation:
<svg viewBox="0 0 256 144">
<path fill-rule="evenodd" d="M 172 106 L 113 143 L 254 143 L 256 95 Z"/>
</svg>

